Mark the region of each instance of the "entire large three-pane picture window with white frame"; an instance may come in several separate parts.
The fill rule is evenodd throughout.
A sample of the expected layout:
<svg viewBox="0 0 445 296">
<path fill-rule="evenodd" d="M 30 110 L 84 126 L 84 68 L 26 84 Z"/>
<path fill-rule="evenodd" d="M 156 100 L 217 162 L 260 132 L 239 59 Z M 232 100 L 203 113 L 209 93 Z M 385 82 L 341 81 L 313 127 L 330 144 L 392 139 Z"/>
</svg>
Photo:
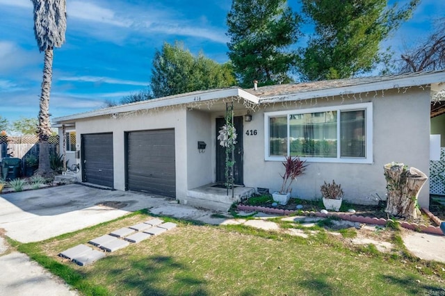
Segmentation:
<svg viewBox="0 0 445 296">
<path fill-rule="evenodd" d="M 372 163 L 372 104 L 265 113 L 266 160 Z"/>
</svg>

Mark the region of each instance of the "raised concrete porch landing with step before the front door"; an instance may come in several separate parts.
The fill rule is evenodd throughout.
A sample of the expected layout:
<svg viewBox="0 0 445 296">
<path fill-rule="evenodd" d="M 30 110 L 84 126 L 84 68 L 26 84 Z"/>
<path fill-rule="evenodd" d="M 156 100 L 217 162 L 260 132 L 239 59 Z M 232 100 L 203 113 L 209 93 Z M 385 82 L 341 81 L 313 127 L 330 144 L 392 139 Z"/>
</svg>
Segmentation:
<svg viewBox="0 0 445 296">
<path fill-rule="evenodd" d="M 227 212 L 234 202 L 239 202 L 241 199 L 248 198 L 255 193 L 254 188 L 235 186 L 232 199 L 232 190 L 229 190 L 229 195 L 227 195 L 226 188 L 214 186 L 218 186 L 218 184 L 211 183 L 188 190 L 186 199 L 181 199 L 179 202 L 197 208 Z"/>
</svg>

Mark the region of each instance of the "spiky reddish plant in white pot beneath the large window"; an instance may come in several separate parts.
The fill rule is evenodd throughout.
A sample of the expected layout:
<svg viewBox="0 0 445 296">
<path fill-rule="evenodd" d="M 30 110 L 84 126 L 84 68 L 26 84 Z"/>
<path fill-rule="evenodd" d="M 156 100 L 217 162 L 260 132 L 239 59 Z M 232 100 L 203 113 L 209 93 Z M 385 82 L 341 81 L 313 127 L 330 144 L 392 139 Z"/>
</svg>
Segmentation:
<svg viewBox="0 0 445 296">
<path fill-rule="evenodd" d="M 282 205 L 289 202 L 292 191 L 291 185 L 298 176 L 305 174 L 305 170 L 307 167 L 305 163 L 306 161 L 301 161 L 298 156 L 294 158 L 292 156 L 286 156 L 286 161 L 283 162 L 284 174 L 280 174 L 283 179 L 282 186 L 280 188 L 280 191 L 272 193 L 272 197 L 275 202 L 278 202 Z"/>
</svg>

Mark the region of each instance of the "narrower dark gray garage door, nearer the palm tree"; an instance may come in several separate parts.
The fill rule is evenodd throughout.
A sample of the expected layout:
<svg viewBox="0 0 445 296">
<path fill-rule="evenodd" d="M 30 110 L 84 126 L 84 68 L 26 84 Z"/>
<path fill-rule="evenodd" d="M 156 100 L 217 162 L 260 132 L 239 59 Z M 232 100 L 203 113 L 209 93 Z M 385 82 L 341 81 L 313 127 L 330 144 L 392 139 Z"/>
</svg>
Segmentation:
<svg viewBox="0 0 445 296">
<path fill-rule="evenodd" d="M 113 133 L 81 135 L 82 181 L 113 188 Z"/>
</svg>

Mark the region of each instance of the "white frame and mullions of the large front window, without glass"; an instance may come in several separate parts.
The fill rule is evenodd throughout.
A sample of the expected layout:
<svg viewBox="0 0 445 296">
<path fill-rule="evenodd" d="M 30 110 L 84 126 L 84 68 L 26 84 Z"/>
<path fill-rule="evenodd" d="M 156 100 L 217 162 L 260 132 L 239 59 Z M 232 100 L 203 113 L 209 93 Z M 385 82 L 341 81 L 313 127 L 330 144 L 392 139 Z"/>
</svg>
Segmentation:
<svg viewBox="0 0 445 296">
<path fill-rule="evenodd" d="M 340 115 L 343 111 L 353 111 L 353 110 L 364 110 L 365 112 L 365 145 L 366 145 L 366 156 L 363 158 L 357 157 L 341 157 L 340 149 Z M 269 119 L 270 117 L 286 116 L 287 118 L 287 155 L 290 152 L 291 143 L 289 141 L 289 115 L 305 114 L 305 113 L 318 113 L 327 111 L 337 111 L 337 157 L 327 158 L 327 157 L 300 157 L 302 160 L 311 163 L 373 163 L 373 104 L 369 103 L 359 103 L 351 105 L 341 105 L 332 107 L 321 107 L 321 108 L 309 108 L 309 109 L 293 109 L 293 110 L 283 110 L 264 113 L 264 160 L 265 161 L 284 161 L 284 156 L 270 156 L 270 141 L 269 141 Z"/>
</svg>

